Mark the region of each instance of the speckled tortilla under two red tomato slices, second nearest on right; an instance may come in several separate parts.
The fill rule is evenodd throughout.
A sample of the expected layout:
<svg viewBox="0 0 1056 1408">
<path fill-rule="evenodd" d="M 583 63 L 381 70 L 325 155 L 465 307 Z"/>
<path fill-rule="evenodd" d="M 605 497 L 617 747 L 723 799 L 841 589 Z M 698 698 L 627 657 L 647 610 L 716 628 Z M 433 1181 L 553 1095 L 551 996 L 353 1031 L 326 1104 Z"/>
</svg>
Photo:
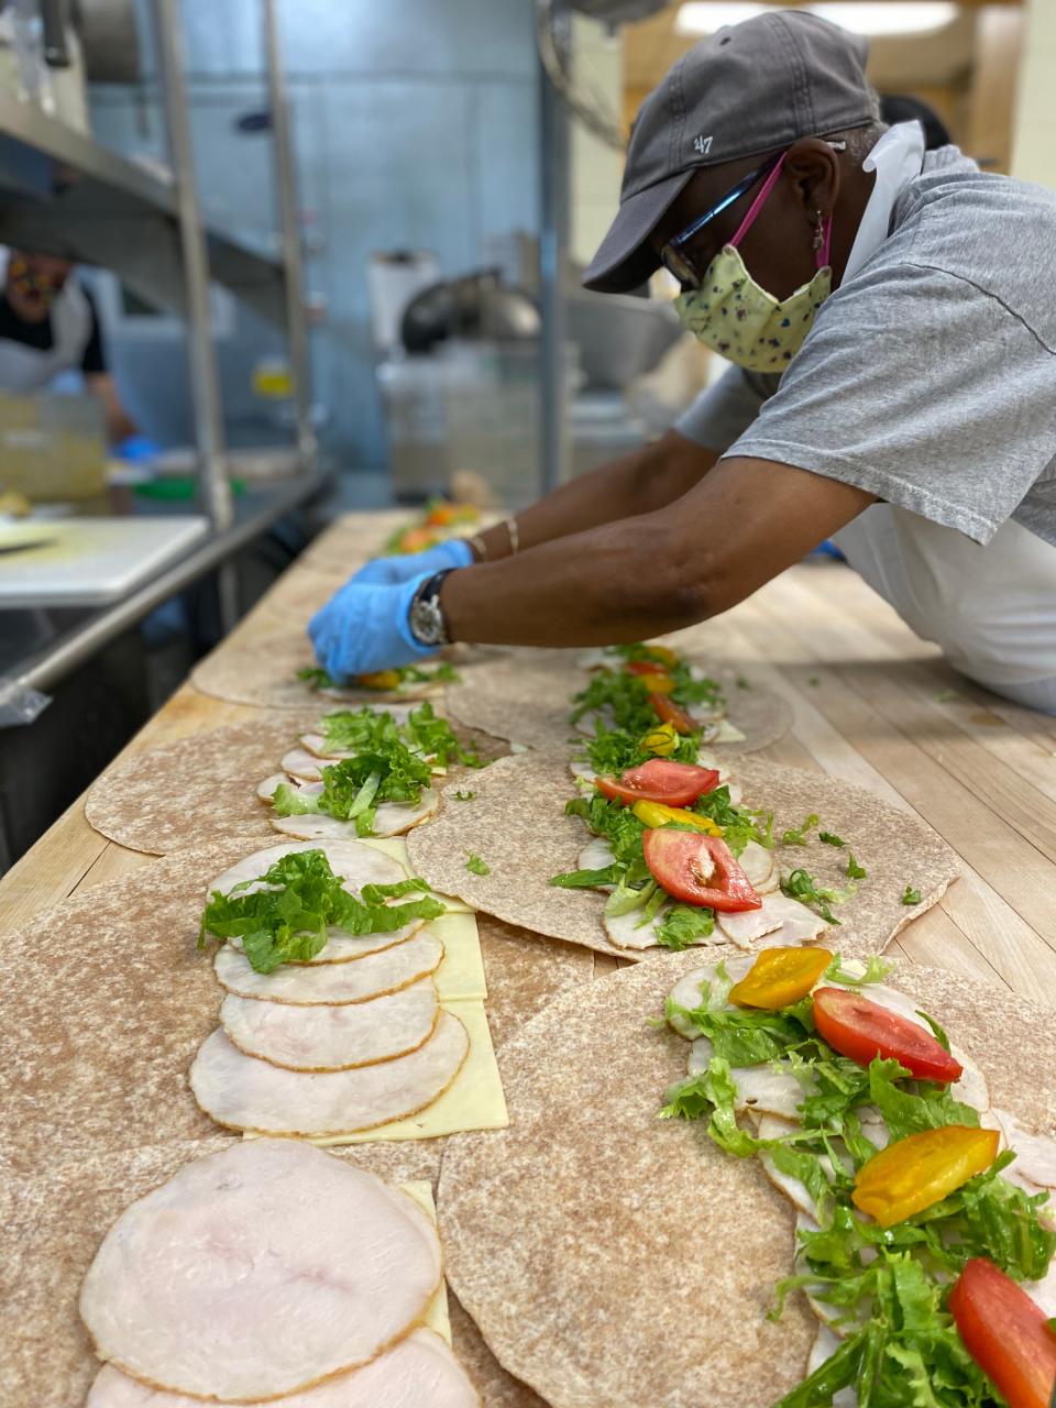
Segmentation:
<svg viewBox="0 0 1056 1408">
<path fill-rule="evenodd" d="M 815 829 L 804 846 L 779 843 L 774 862 L 781 876 L 804 867 L 818 884 L 843 890 L 850 886 L 848 855 L 853 850 L 866 866 L 867 879 L 846 903 L 834 905 L 841 921 L 835 935 L 828 928 L 819 934 L 826 946 L 849 957 L 881 952 L 957 876 L 953 852 L 929 826 L 862 787 L 745 756 L 736 760 L 736 776 L 746 807 L 773 808 L 776 836 L 817 812 L 824 828 L 846 841 L 842 849 L 822 845 Z M 407 849 L 417 874 L 442 894 L 536 934 L 625 957 L 660 952 L 614 946 L 604 934 L 607 897 L 600 891 L 549 884 L 552 876 L 577 869 L 590 841 L 586 825 L 565 815 L 573 786 L 559 755 L 501 759 L 474 777 L 473 790 L 472 801 L 446 807 L 410 834 Z M 480 856 L 489 874 L 466 869 L 470 855 Z M 921 891 L 918 905 L 903 904 L 907 884 Z M 766 936 L 753 943 L 766 945 Z"/>
</svg>

